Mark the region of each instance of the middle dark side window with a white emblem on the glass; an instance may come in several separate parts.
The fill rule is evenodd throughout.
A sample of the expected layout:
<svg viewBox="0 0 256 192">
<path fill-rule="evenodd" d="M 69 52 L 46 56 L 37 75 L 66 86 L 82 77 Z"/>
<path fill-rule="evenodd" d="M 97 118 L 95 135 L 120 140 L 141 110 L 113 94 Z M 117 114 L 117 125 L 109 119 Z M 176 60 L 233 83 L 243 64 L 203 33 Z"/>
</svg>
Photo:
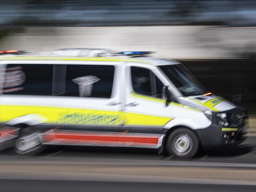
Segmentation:
<svg viewBox="0 0 256 192">
<path fill-rule="evenodd" d="M 110 98 L 115 67 L 111 65 L 56 65 L 54 95 Z M 65 68 L 64 68 L 65 67 Z M 65 74 L 64 74 L 65 72 Z M 63 82 L 64 81 L 64 82 Z M 56 86 L 55 86 L 56 85 Z"/>
</svg>

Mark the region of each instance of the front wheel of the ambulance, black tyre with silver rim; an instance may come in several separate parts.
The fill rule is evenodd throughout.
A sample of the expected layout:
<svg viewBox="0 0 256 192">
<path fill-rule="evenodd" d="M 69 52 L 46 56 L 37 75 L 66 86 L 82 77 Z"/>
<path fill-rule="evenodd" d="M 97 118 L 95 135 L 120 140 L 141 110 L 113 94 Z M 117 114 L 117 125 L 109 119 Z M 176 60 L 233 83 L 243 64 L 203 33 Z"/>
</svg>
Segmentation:
<svg viewBox="0 0 256 192">
<path fill-rule="evenodd" d="M 198 149 L 197 135 L 186 127 L 174 130 L 166 141 L 167 153 L 175 157 L 192 158 L 197 154 Z"/>
</svg>

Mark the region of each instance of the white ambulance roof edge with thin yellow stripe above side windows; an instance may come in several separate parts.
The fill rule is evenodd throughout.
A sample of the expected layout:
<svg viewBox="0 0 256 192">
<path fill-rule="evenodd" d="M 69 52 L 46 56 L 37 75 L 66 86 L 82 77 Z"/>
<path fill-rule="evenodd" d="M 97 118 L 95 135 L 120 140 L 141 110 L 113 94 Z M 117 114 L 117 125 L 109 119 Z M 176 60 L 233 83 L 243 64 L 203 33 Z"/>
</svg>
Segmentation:
<svg viewBox="0 0 256 192">
<path fill-rule="evenodd" d="M 37 57 L 37 56 L 3 56 L 2 61 L 111 61 L 145 63 L 152 66 L 180 64 L 175 60 L 159 59 L 154 57 Z"/>
</svg>

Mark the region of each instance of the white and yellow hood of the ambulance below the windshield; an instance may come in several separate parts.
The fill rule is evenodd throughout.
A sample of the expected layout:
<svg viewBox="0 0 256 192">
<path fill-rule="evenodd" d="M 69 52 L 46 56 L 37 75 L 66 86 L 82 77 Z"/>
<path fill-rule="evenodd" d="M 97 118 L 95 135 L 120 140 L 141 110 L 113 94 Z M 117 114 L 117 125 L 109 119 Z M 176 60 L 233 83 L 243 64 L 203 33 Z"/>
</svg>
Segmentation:
<svg viewBox="0 0 256 192">
<path fill-rule="evenodd" d="M 216 111 L 216 112 L 228 111 L 230 109 L 234 109 L 237 107 L 232 102 L 220 96 L 217 96 L 215 94 L 207 95 L 207 96 L 203 96 L 203 95 L 188 96 L 186 98 L 202 105 L 202 107 L 204 108 L 207 108 L 207 109 L 210 109 L 211 111 Z"/>
</svg>

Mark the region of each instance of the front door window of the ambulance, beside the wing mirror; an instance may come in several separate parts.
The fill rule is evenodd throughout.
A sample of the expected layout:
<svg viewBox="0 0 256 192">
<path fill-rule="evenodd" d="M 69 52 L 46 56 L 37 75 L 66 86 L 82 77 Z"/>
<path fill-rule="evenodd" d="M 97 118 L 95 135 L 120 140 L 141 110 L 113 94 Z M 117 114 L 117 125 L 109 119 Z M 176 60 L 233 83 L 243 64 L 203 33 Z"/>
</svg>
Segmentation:
<svg viewBox="0 0 256 192">
<path fill-rule="evenodd" d="M 132 87 L 138 94 L 161 98 L 163 83 L 146 68 L 131 67 Z"/>
</svg>

